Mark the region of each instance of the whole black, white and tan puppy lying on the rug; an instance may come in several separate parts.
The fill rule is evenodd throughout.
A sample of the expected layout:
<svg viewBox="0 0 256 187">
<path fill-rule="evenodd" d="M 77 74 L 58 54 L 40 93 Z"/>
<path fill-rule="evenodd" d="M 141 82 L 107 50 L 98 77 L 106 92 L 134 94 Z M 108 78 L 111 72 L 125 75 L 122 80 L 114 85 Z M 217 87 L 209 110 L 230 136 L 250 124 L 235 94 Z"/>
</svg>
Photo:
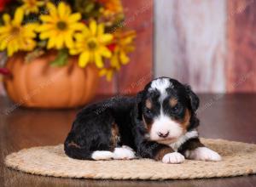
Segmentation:
<svg viewBox="0 0 256 187">
<path fill-rule="evenodd" d="M 160 77 L 137 97 L 114 97 L 79 112 L 67 135 L 67 156 L 86 160 L 133 159 L 164 163 L 185 158 L 220 161 L 201 144 L 195 111 L 199 98 L 187 85 Z"/>
</svg>

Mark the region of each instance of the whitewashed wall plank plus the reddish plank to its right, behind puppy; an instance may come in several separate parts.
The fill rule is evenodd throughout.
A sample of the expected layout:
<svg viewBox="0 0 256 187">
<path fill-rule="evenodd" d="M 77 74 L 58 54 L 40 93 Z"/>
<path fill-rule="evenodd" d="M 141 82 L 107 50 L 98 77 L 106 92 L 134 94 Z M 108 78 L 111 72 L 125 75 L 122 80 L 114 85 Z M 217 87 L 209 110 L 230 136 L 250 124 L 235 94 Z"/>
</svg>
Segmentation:
<svg viewBox="0 0 256 187">
<path fill-rule="evenodd" d="M 155 76 L 196 92 L 255 92 L 255 8 L 254 0 L 155 0 Z"/>
</svg>

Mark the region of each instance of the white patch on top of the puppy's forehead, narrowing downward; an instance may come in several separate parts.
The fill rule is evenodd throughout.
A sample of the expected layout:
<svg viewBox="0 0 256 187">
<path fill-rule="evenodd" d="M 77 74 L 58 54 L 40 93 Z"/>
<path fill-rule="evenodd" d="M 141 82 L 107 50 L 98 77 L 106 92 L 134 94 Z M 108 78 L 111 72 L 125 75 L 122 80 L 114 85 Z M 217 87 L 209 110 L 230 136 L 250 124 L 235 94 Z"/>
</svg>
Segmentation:
<svg viewBox="0 0 256 187">
<path fill-rule="evenodd" d="M 164 100 L 167 96 L 166 88 L 173 88 L 172 82 L 169 78 L 158 78 L 151 82 L 148 91 L 154 91 L 155 89 L 160 92 L 160 101 Z"/>
</svg>

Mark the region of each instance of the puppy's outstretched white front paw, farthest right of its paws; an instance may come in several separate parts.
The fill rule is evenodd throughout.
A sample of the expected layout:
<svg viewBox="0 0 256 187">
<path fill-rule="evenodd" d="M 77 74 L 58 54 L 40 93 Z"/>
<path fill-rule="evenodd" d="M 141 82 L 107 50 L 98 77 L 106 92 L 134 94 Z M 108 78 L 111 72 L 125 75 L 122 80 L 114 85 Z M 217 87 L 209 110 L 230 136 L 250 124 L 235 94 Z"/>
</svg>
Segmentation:
<svg viewBox="0 0 256 187">
<path fill-rule="evenodd" d="M 186 158 L 197 161 L 221 161 L 221 156 L 217 152 L 210 150 L 207 147 L 199 147 L 195 150 L 187 150 L 185 152 Z"/>
</svg>

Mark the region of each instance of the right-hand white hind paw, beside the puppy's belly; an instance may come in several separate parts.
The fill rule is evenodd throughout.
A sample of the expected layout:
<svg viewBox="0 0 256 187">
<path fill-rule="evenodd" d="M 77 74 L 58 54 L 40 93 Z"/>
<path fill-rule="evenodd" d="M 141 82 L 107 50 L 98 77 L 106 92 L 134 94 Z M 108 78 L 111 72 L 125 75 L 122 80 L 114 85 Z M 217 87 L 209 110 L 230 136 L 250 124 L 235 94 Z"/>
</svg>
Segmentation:
<svg viewBox="0 0 256 187">
<path fill-rule="evenodd" d="M 114 148 L 113 159 L 133 159 L 135 158 L 134 151 L 128 146 Z"/>
</svg>

